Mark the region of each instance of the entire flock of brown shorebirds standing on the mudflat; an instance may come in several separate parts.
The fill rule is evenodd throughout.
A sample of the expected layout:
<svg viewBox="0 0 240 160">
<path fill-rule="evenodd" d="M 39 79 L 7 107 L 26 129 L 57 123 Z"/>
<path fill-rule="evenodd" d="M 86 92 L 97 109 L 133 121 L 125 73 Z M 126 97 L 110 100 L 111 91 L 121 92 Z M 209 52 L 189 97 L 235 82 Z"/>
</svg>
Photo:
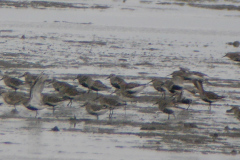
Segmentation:
<svg viewBox="0 0 240 160">
<path fill-rule="evenodd" d="M 240 60 L 240 54 L 236 53 L 227 53 L 225 57 L 229 57 L 234 61 Z M 100 80 L 94 80 L 89 75 L 79 74 L 75 77 L 82 87 L 88 89 L 88 91 L 85 91 L 67 82 L 58 81 L 55 78 L 49 80 L 48 75 L 44 73 L 34 75 L 25 72 L 18 78 L 3 75 L 1 80 L 4 81 L 6 86 L 15 91 L 2 91 L 1 95 L 7 104 L 15 107 L 12 112 L 17 113 L 16 106 L 23 105 L 31 111 L 36 111 L 35 117 L 37 117 L 38 110 L 44 109 L 46 105 L 53 107 L 54 112 L 54 107 L 59 105 L 59 103 L 69 100 L 67 106 L 71 107 L 74 98 L 95 91 L 97 92 L 97 96 L 91 100 L 86 100 L 82 107 L 85 107 L 87 113 L 95 115 L 97 119 L 99 115 L 105 114 L 107 111 L 110 112 L 109 118 L 112 118 L 113 110 L 119 107 L 125 107 L 126 113 L 127 102 L 135 101 L 137 94 L 151 83 L 154 89 L 161 93 L 161 95 L 159 95 L 159 100 L 155 104 L 158 104 L 158 108 L 161 112 L 168 114 L 168 119 L 170 119 L 170 115 L 175 117 L 174 111 L 170 109 L 171 107 L 183 103 L 188 104 L 189 108 L 190 104 L 192 104 L 192 99 L 183 97 L 183 83 L 185 80 L 191 81 L 196 87 L 201 100 L 209 103 L 209 110 L 211 110 L 211 104 L 213 102 L 225 98 L 214 92 L 204 90 L 203 82 L 207 81 L 208 77 L 204 73 L 190 71 L 187 68 L 180 67 L 180 70 L 174 71 L 170 75 L 172 78 L 165 81 L 161 78 L 153 78 L 147 84 L 139 84 L 134 82 L 128 83 L 121 76 L 111 74 L 107 77 L 107 79 L 110 79 L 112 87 L 115 88 L 115 91 L 112 92 L 111 95 L 116 94 L 118 97 L 113 98 L 111 96 L 98 94 L 98 92 L 101 91 L 110 91 L 111 87 L 103 84 Z M 19 79 L 21 77 L 25 77 L 25 82 Z M 58 94 L 42 93 L 45 82 L 51 83 Z M 26 85 L 30 87 L 29 94 L 17 91 Z M 240 117 L 240 110 L 238 107 L 233 107 L 232 109 L 227 110 L 227 112 L 233 112 Z"/>
</svg>

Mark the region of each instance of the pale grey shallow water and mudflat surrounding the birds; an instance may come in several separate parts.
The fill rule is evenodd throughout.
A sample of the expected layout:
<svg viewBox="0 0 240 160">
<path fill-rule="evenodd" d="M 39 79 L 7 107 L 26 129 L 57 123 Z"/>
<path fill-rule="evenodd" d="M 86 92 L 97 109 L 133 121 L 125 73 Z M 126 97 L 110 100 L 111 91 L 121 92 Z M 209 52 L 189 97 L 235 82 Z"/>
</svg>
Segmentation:
<svg viewBox="0 0 240 160">
<path fill-rule="evenodd" d="M 110 86 L 106 76 L 111 73 L 128 82 L 147 83 L 188 67 L 209 75 L 212 85 L 204 84 L 206 90 L 227 98 L 214 103 L 209 112 L 207 103 L 185 91 L 194 105 L 190 110 L 173 108 L 176 119 L 170 120 L 152 105 L 160 94 L 151 85 L 139 94 L 138 103 L 129 103 L 126 115 L 119 108 L 112 120 L 105 114 L 97 121 L 79 108 L 83 99 L 95 94 L 79 97 L 72 108 L 64 102 L 54 115 L 46 108 L 37 120 L 22 106 L 17 106 L 18 114 L 11 114 L 12 108 L 2 104 L 1 158 L 239 159 L 231 154 L 240 152 L 239 120 L 226 114 L 239 103 L 239 64 L 222 58 L 239 51 L 226 44 L 239 40 L 240 13 L 233 7 L 239 1 L 60 2 L 67 4 L 1 1 L 2 73 L 44 71 L 74 85 L 77 74 L 90 74 Z M 2 81 L 0 85 L 5 88 Z M 44 92 L 54 90 L 49 85 Z M 74 115 L 77 120 L 70 121 Z M 54 126 L 60 131 L 51 131 Z"/>
</svg>

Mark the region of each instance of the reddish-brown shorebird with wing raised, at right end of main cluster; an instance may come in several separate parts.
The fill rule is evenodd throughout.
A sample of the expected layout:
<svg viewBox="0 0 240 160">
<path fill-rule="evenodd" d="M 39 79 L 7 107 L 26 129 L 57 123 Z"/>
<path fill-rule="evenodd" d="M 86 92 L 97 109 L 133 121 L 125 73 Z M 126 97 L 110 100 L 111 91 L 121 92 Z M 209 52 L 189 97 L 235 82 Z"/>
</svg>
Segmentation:
<svg viewBox="0 0 240 160">
<path fill-rule="evenodd" d="M 225 98 L 225 96 L 219 96 L 214 92 L 210 92 L 210 91 L 205 91 L 203 89 L 203 85 L 202 85 L 202 81 L 198 81 L 198 80 L 193 80 L 193 84 L 195 85 L 195 87 L 198 89 L 199 93 L 200 93 L 200 98 L 209 103 L 209 110 L 211 110 L 211 104 L 213 102 L 216 102 L 219 99 L 223 99 Z"/>
</svg>

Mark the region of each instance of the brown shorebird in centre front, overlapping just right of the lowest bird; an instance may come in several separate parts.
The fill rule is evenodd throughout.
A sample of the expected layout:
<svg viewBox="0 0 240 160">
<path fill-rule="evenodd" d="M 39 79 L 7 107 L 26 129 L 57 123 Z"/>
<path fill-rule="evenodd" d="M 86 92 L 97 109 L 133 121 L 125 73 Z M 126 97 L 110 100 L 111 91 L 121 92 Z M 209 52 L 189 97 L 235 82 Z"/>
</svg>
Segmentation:
<svg viewBox="0 0 240 160">
<path fill-rule="evenodd" d="M 95 100 L 99 100 L 101 105 L 106 106 L 109 109 L 110 111 L 109 118 L 112 118 L 114 109 L 126 105 L 125 103 L 123 104 L 117 101 L 116 99 L 105 97 L 105 96 L 99 96 Z"/>
</svg>

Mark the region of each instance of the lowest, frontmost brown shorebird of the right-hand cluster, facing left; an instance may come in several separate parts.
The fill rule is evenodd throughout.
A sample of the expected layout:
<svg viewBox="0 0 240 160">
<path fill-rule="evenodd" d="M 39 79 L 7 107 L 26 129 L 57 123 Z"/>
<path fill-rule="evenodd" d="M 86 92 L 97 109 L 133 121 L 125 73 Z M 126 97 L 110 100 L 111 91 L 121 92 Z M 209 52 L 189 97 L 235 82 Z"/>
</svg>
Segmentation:
<svg viewBox="0 0 240 160">
<path fill-rule="evenodd" d="M 175 117 L 174 111 L 169 109 L 168 107 L 174 106 L 174 101 L 173 99 L 162 99 L 159 100 L 157 103 L 158 104 L 158 109 L 162 111 L 163 113 L 168 114 L 168 119 L 170 119 L 170 115 L 172 114 Z"/>
</svg>

